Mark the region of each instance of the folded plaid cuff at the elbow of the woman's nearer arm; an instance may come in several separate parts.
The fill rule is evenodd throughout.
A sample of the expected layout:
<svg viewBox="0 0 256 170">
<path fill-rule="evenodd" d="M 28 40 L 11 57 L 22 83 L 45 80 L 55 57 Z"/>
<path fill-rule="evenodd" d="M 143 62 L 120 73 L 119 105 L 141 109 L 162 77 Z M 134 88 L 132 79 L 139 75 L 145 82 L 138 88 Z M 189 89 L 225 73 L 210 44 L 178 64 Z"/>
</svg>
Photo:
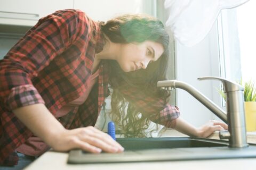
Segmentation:
<svg viewBox="0 0 256 170">
<path fill-rule="evenodd" d="M 7 98 L 7 107 L 10 111 L 15 108 L 38 103 L 45 104 L 41 95 L 31 84 L 12 88 L 9 97 Z"/>
</svg>

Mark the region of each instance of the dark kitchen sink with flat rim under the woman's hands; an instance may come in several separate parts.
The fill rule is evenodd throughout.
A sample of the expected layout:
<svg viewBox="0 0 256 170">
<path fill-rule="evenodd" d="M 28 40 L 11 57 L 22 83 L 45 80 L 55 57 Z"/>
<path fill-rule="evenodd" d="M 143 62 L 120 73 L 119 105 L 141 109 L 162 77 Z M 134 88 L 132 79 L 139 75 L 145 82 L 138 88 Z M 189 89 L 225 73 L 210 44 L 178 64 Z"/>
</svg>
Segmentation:
<svg viewBox="0 0 256 170">
<path fill-rule="evenodd" d="M 229 148 L 228 141 L 205 138 L 117 138 L 123 153 L 91 154 L 80 149 L 69 152 L 68 163 L 122 163 L 180 161 L 202 159 L 228 159 L 256 157 L 256 145 L 246 148 Z"/>
</svg>

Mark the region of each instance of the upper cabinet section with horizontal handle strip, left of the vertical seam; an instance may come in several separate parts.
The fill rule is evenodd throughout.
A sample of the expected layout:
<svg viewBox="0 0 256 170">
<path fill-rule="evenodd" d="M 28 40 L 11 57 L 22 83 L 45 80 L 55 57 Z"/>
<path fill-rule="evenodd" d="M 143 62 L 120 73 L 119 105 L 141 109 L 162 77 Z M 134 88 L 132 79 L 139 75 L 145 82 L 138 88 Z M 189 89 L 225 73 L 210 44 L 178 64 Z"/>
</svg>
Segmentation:
<svg viewBox="0 0 256 170">
<path fill-rule="evenodd" d="M 1 0 L 0 24 L 32 26 L 38 19 L 65 8 L 73 8 L 74 0 Z"/>
</svg>

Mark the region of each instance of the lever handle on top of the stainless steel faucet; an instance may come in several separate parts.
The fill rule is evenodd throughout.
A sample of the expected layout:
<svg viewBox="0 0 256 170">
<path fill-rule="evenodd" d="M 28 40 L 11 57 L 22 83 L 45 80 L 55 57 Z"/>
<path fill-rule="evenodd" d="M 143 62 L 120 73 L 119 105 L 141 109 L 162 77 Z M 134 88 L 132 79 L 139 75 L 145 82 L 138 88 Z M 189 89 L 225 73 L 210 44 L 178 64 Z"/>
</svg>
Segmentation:
<svg viewBox="0 0 256 170">
<path fill-rule="evenodd" d="M 244 90 L 244 88 L 240 84 L 235 83 L 235 82 L 230 81 L 230 80 L 227 80 L 227 79 L 223 79 L 223 78 L 219 78 L 219 77 L 200 77 L 200 78 L 197 78 L 197 80 L 210 80 L 210 79 L 220 80 L 223 83 L 224 92 L 239 91 L 239 90 L 243 91 Z"/>
</svg>

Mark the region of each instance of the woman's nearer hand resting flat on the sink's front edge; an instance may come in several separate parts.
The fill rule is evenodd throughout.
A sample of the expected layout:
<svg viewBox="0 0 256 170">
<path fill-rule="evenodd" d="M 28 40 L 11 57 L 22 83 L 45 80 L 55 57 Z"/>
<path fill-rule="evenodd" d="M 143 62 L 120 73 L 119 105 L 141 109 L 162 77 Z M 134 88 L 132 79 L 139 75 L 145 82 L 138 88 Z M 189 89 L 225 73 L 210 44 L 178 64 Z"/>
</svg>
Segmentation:
<svg viewBox="0 0 256 170">
<path fill-rule="evenodd" d="M 56 151 L 68 151 L 79 148 L 92 153 L 122 152 L 124 148 L 110 135 L 95 129 L 93 126 L 64 130 L 52 138 L 51 147 Z"/>
</svg>

